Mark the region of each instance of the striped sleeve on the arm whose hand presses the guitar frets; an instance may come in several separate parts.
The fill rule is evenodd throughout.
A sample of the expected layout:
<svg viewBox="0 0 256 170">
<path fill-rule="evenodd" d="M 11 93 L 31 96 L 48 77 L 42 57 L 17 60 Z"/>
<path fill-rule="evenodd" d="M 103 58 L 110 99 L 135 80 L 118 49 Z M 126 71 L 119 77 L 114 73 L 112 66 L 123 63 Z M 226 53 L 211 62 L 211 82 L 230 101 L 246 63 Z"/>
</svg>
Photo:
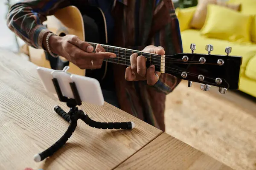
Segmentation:
<svg viewBox="0 0 256 170">
<path fill-rule="evenodd" d="M 162 46 L 166 55 L 183 52 L 180 26 L 172 0 L 158 0 L 154 11 L 152 30 L 154 34 L 151 44 Z M 180 81 L 181 79 L 171 74 L 163 73 L 153 87 L 165 94 L 169 94 L 177 87 Z"/>
</svg>

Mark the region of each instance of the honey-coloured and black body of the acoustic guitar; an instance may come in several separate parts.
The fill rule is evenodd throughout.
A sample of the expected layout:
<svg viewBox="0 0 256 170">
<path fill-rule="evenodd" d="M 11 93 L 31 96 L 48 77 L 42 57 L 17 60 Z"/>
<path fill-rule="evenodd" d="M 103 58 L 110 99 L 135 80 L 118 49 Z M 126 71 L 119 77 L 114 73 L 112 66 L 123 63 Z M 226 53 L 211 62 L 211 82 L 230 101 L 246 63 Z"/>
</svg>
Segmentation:
<svg viewBox="0 0 256 170">
<path fill-rule="evenodd" d="M 58 36 L 73 34 L 83 41 L 107 44 L 106 21 L 103 12 L 97 7 L 85 8 L 88 8 L 84 10 L 86 13 L 81 14 L 77 7 L 67 6 L 58 10 L 54 15 L 47 16 L 47 21 L 43 24 Z M 86 75 L 98 80 L 104 78 L 107 68 L 107 63 L 104 62 L 102 68 L 86 71 L 67 61 L 64 57 L 54 58 L 47 51 L 31 46 L 29 46 L 29 58 L 38 66 L 56 70 L 62 70 L 64 66 L 68 65 L 70 73 Z"/>
</svg>

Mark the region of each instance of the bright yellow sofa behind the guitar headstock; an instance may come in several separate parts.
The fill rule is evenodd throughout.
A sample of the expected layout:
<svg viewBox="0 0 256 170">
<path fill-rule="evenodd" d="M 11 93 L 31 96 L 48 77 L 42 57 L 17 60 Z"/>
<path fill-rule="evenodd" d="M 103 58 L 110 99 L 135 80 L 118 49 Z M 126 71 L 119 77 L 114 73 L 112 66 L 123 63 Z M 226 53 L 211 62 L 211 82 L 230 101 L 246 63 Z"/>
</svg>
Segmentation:
<svg viewBox="0 0 256 170">
<path fill-rule="evenodd" d="M 230 0 L 228 3 L 240 3 L 241 10 L 239 10 L 239 12 L 244 12 L 252 16 L 251 22 L 255 23 L 251 23 L 250 34 L 256 35 L 256 28 L 252 28 L 253 24 L 256 27 L 256 0 Z M 246 5 L 243 6 L 243 3 L 250 3 L 250 5 L 246 4 L 247 8 L 245 8 Z M 251 11 L 248 9 L 248 7 L 251 8 Z M 213 51 L 211 52 L 211 54 L 226 55 L 225 48 L 227 46 L 232 47 L 232 52 L 230 55 L 243 57 L 241 65 L 239 90 L 256 97 L 256 42 L 253 42 L 251 40 L 248 43 L 242 43 L 218 38 L 209 38 L 205 35 L 202 35 L 201 29 L 203 28 L 199 30 L 190 27 L 190 22 L 192 20 L 193 14 L 195 13 L 195 10 L 196 7 L 176 8 L 175 10 L 180 24 L 183 52 L 191 52 L 191 43 L 194 43 L 196 45 L 195 53 L 204 54 L 207 53 L 207 51 L 205 50 L 205 45 L 207 44 L 213 45 Z M 227 19 L 229 18 L 227 16 L 225 17 Z M 255 32 L 252 30 L 254 30 Z"/>
</svg>

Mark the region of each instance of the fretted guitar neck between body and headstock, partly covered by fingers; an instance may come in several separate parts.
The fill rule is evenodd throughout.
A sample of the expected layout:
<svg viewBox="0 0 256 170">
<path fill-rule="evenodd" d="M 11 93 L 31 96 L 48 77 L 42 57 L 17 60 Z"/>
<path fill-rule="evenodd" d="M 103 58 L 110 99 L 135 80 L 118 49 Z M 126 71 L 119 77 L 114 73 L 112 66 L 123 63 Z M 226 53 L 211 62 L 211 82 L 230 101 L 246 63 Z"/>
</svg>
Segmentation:
<svg viewBox="0 0 256 170">
<path fill-rule="evenodd" d="M 93 43 L 93 42 L 88 42 L 88 43 L 92 45 L 95 50 L 97 43 Z M 100 45 L 106 50 L 106 52 L 111 52 L 116 54 L 116 58 L 104 59 L 104 61 L 106 62 L 131 66 L 130 56 L 131 54 L 137 53 L 139 56 L 142 55 L 147 59 L 146 61 L 147 68 L 150 65 L 155 65 L 155 71 L 164 72 L 165 62 L 164 62 L 164 57 L 161 55 L 137 51 L 137 50 L 131 50 L 127 48 L 120 48 L 120 47 L 115 47 L 111 45 L 104 45 L 104 44 L 100 44 Z"/>
</svg>

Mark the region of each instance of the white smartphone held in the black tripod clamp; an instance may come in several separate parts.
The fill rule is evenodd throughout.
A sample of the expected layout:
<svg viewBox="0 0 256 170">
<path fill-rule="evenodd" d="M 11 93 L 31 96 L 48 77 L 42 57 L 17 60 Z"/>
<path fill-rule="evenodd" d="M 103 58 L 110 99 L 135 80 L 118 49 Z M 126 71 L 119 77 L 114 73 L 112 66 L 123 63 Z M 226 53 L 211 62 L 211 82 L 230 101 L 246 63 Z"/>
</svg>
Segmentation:
<svg viewBox="0 0 256 170">
<path fill-rule="evenodd" d="M 96 79 L 44 67 L 38 67 L 37 72 L 44 88 L 49 93 L 57 94 L 52 82 L 52 79 L 56 78 L 63 96 L 74 99 L 70 82 L 75 82 L 81 101 L 99 106 L 104 105 L 102 90 L 99 81 Z"/>
</svg>

